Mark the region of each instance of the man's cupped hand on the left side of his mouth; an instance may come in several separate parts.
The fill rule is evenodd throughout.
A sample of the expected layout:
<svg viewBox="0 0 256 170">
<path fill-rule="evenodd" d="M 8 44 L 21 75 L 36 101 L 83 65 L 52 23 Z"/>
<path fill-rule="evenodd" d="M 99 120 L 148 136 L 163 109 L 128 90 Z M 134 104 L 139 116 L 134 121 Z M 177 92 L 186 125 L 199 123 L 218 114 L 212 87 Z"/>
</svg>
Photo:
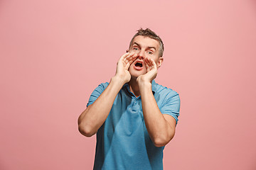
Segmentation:
<svg viewBox="0 0 256 170">
<path fill-rule="evenodd" d="M 129 66 L 137 59 L 136 53 L 125 53 L 120 57 L 119 61 L 117 62 L 117 71 L 114 77 L 122 81 L 123 84 L 127 83 L 131 79 L 131 74 L 129 73 L 128 69 Z"/>
</svg>

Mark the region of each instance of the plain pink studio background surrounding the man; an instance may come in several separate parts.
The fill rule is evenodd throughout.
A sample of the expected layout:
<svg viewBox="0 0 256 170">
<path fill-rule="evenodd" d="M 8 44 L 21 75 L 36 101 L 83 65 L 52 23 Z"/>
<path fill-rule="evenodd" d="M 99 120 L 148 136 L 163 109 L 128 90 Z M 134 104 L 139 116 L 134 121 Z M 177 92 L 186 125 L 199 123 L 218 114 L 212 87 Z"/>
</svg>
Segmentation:
<svg viewBox="0 0 256 170">
<path fill-rule="evenodd" d="M 256 169 L 255 1 L 1 0 L 1 170 L 92 169 L 78 116 L 140 27 L 181 96 L 164 169 Z"/>
</svg>

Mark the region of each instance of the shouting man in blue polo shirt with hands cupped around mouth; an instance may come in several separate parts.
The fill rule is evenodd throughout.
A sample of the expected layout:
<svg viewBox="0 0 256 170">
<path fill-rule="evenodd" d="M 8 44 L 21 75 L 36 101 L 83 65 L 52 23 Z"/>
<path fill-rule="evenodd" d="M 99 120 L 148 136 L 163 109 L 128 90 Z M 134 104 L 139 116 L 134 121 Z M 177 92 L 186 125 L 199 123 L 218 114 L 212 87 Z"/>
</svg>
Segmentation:
<svg viewBox="0 0 256 170">
<path fill-rule="evenodd" d="M 163 52 L 156 33 L 138 30 L 110 83 L 92 92 L 78 126 L 86 137 L 97 133 L 94 169 L 163 169 L 180 108 L 178 94 L 154 81 Z"/>
</svg>

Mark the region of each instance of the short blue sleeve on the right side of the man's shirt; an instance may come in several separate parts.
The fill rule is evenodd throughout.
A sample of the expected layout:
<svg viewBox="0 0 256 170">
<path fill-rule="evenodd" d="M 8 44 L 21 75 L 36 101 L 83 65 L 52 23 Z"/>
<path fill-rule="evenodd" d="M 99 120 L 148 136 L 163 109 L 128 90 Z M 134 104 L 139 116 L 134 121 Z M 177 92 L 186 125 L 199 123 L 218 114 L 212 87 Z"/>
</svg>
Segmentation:
<svg viewBox="0 0 256 170">
<path fill-rule="evenodd" d="M 164 103 L 161 106 L 161 113 L 171 115 L 175 118 L 176 124 L 178 123 L 178 115 L 180 110 L 181 100 L 175 91 L 171 91 L 166 95 Z"/>
</svg>

